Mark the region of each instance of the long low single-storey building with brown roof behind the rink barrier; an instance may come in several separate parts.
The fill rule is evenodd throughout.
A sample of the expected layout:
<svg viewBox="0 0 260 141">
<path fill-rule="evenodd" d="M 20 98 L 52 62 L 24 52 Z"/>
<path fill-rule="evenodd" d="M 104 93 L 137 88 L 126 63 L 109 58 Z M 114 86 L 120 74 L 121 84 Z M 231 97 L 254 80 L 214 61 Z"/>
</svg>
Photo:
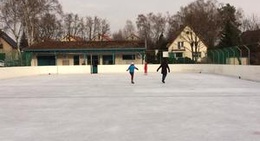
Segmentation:
<svg viewBox="0 0 260 141">
<path fill-rule="evenodd" d="M 50 41 L 25 48 L 32 66 L 143 63 L 141 41 Z"/>
</svg>

